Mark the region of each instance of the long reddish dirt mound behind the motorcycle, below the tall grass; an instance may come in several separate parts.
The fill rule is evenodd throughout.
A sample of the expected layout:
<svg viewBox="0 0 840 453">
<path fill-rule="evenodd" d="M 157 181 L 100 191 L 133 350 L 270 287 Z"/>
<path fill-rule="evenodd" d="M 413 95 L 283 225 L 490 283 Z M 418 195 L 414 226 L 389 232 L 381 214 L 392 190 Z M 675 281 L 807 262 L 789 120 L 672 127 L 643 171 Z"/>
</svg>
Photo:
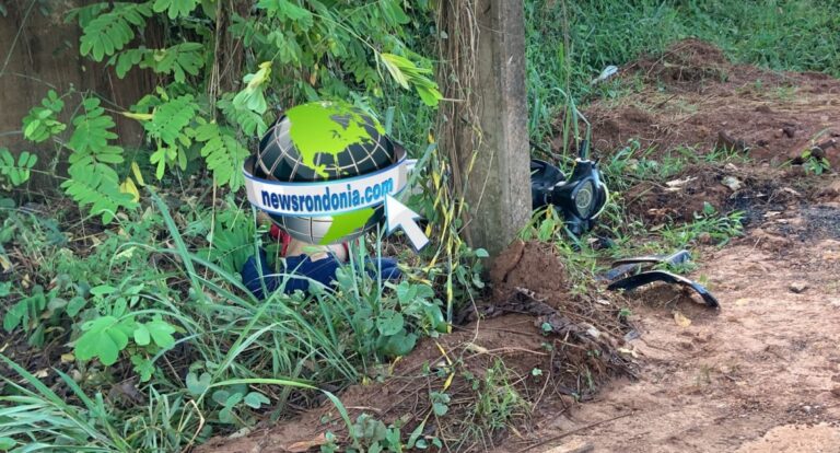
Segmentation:
<svg viewBox="0 0 840 453">
<path fill-rule="evenodd" d="M 840 81 L 826 74 L 734 65 L 714 46 L 688 39 L 618 77 L 632 93 L 585 112 L 602 152 L 635 139 L 640 152 L 655 148 L 660 155 L 726 148 L 780 164 L 815 151 L 840 167 Z"/>
</svg>

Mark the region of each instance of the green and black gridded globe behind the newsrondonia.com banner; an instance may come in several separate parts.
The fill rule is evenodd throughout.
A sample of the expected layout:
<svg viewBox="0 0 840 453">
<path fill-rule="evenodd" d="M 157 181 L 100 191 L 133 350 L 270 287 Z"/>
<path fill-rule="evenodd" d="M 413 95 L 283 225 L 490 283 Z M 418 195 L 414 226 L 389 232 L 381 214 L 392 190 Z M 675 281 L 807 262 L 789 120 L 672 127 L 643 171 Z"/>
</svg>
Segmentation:
<svg viewBox="0 0 840 453">
<path fill-rule="evenodd" d="M 271 126 L 254 156 L 253 175 L 305 186 L 380 172 L 396 164 L 398 154 L 397 147 L 375 118 L 349 104 L 314 102 L 284 112 Z M 387 188 L 374 187 L 375 190 L 361 196 L 382 197 L 384 201 L 386 194 L 383 191 Z M 325 204 L 330 196 L 335 201 L 338 194 L 324 197 Z M 296 202 L 294 199 L 289 202 L 292 201 Z M 320 199 L 315 197 L 314 201 L 320 202 Z M 384 217 L 382 201 L 332 216 L 268 213 L 292 237 L 312 244 L 331 244 L 352 240 L 376 228 Z M 303 204 L 303 199 L 300 202 Z M 307 208 L 312 210 L 312 206 Z"/>
</svg>

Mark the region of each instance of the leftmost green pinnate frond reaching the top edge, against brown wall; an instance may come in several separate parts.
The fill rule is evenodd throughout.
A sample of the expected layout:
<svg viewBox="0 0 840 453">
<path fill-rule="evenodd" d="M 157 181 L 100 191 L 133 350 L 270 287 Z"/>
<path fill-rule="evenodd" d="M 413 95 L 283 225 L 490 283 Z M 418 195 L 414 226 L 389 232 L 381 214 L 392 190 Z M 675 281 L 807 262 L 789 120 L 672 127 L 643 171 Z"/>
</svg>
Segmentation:
<svg viewBox="0 0 840 453">
<path fill-rule="evenodd" d="M 133 27 L 142 27 L 145 18 L 151 15 L 148 3 L 115 3 L 110 11 L 100 13 L 83 25 L 79 51 L 102 61 L 106 55 L 114 55 L 133 39 Z"/>
</svg>

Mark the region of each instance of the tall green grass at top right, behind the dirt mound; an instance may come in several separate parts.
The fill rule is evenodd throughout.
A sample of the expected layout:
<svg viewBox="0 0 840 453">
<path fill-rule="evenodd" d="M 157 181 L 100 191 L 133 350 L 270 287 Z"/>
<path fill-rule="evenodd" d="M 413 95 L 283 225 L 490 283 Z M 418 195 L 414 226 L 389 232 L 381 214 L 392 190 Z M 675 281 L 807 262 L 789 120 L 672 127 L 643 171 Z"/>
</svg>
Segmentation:
<svg viewBox="0 0 840 453">
<path fill-rule="evenodd" d="M 840 77 L 836 10 L 830 0 L 526 0 L 532 139 L 552 133 L 567 93 L 579 102 L 605 94 L 608 83 L 590 83 L 605 67 L 687 37 L 737 62 Z"/>
</svg>

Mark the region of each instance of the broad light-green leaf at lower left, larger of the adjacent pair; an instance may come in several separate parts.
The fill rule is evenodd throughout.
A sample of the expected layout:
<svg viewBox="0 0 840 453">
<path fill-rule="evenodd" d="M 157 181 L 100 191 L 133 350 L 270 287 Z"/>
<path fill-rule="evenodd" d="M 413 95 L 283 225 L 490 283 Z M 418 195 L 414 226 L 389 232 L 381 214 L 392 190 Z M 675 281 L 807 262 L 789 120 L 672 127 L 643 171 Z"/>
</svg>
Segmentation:
<svg viewBox="0 0 840 453">
<path fill-rule="evenodd" d="M 128 323 L 114 316 L 103 316 L 84 323 L 84 334 L 75 341 L 77 359 L 91 360 L 96 357 L 104 365 L 114 364 L 119 351 L 128 346 L 127 327 L 130 327 Z"/>
</svg>

